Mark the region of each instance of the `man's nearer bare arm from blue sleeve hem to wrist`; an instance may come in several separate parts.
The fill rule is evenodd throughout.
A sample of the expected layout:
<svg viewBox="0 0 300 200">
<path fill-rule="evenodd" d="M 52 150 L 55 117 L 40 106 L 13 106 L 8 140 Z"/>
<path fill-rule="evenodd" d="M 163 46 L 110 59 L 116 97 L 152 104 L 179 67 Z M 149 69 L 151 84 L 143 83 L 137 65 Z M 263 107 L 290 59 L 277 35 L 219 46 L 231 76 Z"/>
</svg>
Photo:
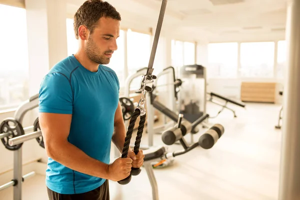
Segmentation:
<svg viewBox="0 0 300 200">
<path fill-rule="evenodd" d="M 39 124 L 47 155 L 73 170 L 109 179 L 108 164 L 89 157 L 67 141 L 71 118 L 71 114 L 39 113 Z"/>
</svg>

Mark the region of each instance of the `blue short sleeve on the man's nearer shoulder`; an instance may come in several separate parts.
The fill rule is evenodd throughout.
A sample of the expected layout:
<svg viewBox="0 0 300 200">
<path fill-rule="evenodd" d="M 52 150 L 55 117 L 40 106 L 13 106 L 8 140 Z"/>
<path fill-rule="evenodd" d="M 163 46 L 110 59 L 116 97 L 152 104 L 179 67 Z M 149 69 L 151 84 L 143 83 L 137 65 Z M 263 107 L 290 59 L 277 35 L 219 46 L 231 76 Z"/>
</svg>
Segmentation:
<svg viewBox="0 0 300 200">
<path fill-rule="evenodd" d="M 67 76 L 60 72 L 47 74 L 41 81 L 38 111 L 72 114 L 73 92 Z"/>
</svg>

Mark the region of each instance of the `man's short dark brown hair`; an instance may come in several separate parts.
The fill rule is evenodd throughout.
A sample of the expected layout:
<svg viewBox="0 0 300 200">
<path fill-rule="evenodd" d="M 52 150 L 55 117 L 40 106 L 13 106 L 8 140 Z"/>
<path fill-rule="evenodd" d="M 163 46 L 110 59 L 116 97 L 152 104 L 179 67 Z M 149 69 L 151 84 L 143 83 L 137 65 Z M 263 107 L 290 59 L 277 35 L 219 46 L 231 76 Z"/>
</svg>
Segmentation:
<svg viewBox="0 0 300 200">
<path fill-rule="evenodd" d="M 102 0 L 86 0 L 74 14 L 74 31 L 75 37 L 78 39 L 78 28 L 85 25 L 90 33 L 96 27 L 96 23 L 101 17 L 110 17 L 121 20 L 121 16 L 116 9 L 107 1 Z"/>
</svg>

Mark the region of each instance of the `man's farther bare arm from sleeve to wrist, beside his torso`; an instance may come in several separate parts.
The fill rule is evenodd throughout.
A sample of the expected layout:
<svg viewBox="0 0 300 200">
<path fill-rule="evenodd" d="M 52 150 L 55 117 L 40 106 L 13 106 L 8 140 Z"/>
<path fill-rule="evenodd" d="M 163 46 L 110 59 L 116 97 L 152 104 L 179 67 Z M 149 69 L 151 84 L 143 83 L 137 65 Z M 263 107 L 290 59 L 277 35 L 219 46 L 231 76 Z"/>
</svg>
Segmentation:
<svg viewBox="0 0 300 200">
<path fill-rule="evenodd" d="M 114 115 L 114 132 L 112 134 L 112 142 L 119 149 L 120 152 L 122 152 L 122 149 L 124 147 L 125 137 L 126 128 L 123 120 L 121 105 L 120 102 L 118 102 L 118 106 Z"/>
</svg>

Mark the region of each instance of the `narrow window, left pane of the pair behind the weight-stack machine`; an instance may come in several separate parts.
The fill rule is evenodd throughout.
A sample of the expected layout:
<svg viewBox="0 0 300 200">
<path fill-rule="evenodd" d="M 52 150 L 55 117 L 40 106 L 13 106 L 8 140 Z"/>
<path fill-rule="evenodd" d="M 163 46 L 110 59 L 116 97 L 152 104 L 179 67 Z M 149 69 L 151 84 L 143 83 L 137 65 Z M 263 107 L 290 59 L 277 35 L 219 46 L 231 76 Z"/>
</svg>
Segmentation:
<svg viewBox="0 0 300 200">
<path fill-rule="evenodd" d="M 171 41 L 171 59 L 172 66 L 175 68 L 176 77 L 177 72 L 180 70 L 180 67 L 184 65 L 183 63 L 183 42 L 178 40 Z"/>
</svg>

